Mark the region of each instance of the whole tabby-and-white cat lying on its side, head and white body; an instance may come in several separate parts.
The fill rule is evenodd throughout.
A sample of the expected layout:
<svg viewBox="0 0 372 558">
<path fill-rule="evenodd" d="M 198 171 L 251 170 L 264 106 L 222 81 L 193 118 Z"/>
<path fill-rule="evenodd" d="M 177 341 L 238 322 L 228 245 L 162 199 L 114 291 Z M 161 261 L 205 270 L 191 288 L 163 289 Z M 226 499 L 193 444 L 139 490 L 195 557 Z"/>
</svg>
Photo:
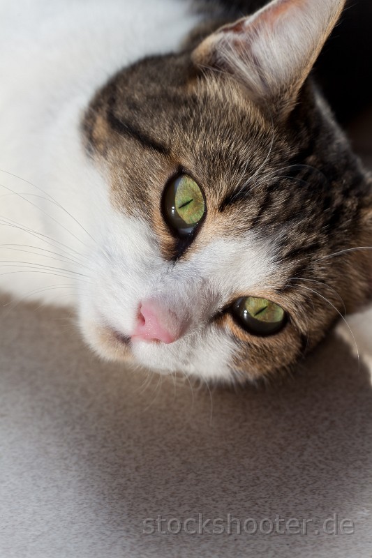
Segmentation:
<svg viewBox="0 0 372 558">
<path fill-rule="evenodd" d="M 1 3 L 0 288 L 105 359 L 291 370 L 371 299 L 371 177 L 312 70 L 343 8 Z"/>
</svg>

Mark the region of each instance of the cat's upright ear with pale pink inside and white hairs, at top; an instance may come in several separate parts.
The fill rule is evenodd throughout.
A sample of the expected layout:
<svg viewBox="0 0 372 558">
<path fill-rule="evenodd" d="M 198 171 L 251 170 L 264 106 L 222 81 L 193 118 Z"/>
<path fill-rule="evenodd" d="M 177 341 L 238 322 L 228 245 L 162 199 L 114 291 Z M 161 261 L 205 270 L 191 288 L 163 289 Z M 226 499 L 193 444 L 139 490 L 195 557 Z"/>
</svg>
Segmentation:
<svg viewBox="0 0 372 558">
<path fill-rule="evenodd" d="M 344 4 L 273 0 L 211 34 L 193 52 L 193 60 L 234 75 L 261 105 L 288 112 Z"/>
</svg>

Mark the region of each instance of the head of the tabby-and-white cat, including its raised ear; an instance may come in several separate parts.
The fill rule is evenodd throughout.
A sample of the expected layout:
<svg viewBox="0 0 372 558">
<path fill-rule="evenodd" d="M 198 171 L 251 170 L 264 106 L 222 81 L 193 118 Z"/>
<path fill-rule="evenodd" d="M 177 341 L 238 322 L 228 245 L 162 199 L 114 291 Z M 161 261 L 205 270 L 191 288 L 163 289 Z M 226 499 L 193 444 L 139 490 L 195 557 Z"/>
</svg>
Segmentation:
<svg viewBox="0 0 372 558">
<path fill-rule="evenodd" d="M 271 2 L 91 103 L 102 214 L 80 321 L 103 356 L 257 379 L 366 301 L 366 253 L 334 254 L 371 243 L 370 186 L 306 80 L 343 2 L 318 3 Z"/>
</svg>

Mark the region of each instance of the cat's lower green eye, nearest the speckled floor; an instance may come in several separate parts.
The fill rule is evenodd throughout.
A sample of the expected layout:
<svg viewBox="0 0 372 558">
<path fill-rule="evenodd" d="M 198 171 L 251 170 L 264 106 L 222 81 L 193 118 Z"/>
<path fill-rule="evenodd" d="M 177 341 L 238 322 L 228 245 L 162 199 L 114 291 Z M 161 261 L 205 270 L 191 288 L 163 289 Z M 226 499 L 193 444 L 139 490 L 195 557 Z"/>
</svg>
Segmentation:
<svg viewBox="0 0 372 558">
<path fill-rule="evenodd" d="M 239 325 L 253 335 L 274 335 L 285 326 L 287 320 L 281 306 L 267 299 L 257 299 L 255 296 L 237 299 L 231 313 Z"/>
</svg>

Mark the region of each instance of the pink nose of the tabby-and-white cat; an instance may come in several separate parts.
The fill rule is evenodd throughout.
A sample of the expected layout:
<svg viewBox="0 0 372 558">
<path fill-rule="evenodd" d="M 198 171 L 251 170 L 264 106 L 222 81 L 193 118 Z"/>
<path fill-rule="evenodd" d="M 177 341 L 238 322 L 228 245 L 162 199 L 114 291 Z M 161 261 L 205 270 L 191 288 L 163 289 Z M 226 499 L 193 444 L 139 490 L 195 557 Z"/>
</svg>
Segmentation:
<svg viewBox="0 0 372 558">
<path fill-rule="evenodd" d="M 175 315 L 155 301 L 142 302 L 132 339 L 172 343 L 180 336 L 181 327 Z"/>
</svg>

